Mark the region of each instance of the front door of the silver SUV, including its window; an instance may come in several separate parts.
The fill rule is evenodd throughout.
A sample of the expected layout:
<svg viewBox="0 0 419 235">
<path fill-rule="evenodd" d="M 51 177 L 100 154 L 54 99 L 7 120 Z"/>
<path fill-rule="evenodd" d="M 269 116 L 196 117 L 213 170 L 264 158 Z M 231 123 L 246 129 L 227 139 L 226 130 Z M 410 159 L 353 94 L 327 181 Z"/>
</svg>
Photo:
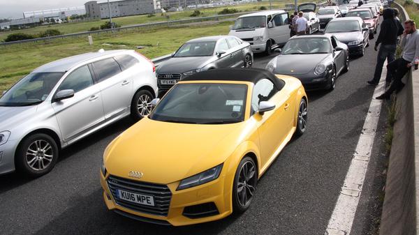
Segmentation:
<svg viewBox="0 0 419 235">
<path fill-rule="evenodd" d="M 56 92 L 67 89 L 75 92 L 72 98 L 52 103 L 64 142 L 77 138 L 105 119 L 101 89 L 94 84 L 89 66 L 73 70 Z"/>
</svg>

